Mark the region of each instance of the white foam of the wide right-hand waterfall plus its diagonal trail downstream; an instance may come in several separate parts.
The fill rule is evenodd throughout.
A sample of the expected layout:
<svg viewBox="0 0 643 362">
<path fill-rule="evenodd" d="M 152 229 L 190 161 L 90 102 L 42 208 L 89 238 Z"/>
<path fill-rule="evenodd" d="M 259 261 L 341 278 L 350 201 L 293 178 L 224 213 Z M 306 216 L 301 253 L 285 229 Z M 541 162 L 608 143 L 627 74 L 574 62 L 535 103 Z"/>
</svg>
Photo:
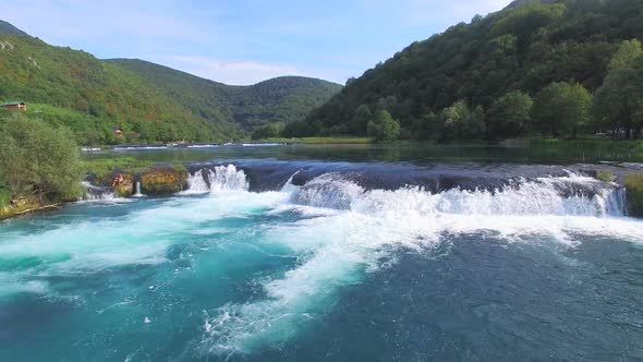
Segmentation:
<svg viewBox="0 0 643 362">
<path fill-rule="evenodd" d="M 364 192 L 336 176 L 319 178 L 317 185 L 315 182 L 308 183 L 308 190 L 294 191 L 293 201 L 344 210 L 272 226 L 263 242 L 289 248 L 302 263 L 283 277 L 262 281 L 266 299 L 228 304 L 206 317 L 202 352 L 248 353 L 280 345 L 325 313 L 338 290 L 378 269 L 383 260 L 390 262 L 391 250 L 430 249 L 449 239 L 448 234 L 484 233 L 509 243 L 563 248 L 574 248 L 586 236 L 643 243 L 643 222 L 610 216 L 622 213 L 622 205 L 609 206 L 610 197 L 621 195 L 614 185 L 593 196 L 561 195 L 559 182 L 595 182 L 577 176 L 522 181 L 518 188 L 494 192 L 451 190 L 438 194 L 417 188 Z M 337 200 L 318 194 L 319 190 Z M 298 207 L 279 206 L 272 213 Z"/>
</svg>

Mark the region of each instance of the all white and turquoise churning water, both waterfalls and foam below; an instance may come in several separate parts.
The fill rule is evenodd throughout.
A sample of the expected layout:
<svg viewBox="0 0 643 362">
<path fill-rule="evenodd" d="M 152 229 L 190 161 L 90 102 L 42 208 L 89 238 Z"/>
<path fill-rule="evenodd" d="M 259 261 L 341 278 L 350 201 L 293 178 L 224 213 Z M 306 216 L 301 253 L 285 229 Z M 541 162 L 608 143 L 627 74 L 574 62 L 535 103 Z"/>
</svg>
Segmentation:
<svg viewBox="0 0 643 362">
<path fill-rule="evenodd" d="M 573 264 L 560 250 L 574 249 L 586 237 L 643 244 L 643 222 L 626 216 L 624 191 L 573 172 L 439 192 L 372 188 L 338 171 L 304 182 L 295 171 L 275 190 L 251 192 L 256 177 L 250 172 L 234 165 L 203 167 L 191 172 L 189 189 L 178 197 L 92 205 L 95 217 L 72 210 L 71 221 L 36 222 L 28 231 L 9 225 L 0 233 L 0 265 L 11 266 L 0 269 L 0 301 L 34 293 L 90 304 L 94 297 L 78 292 L 74 299 L 56 280 L 166 266 L 165 274 L 141 277 L 142 286 L 132 281 L 133 291 L 99 303 L 92 315 L 118 312 L 126 317 L 125 329 L 197 328 L 199 336 L 181 355 L 227 358 L 278 348 L 305 334 L 332 312 L 343 289 L 398 263 L 400 250 L 430 253 L 452 236 L 472 234 L 507 245 L 543 245 Z M 116 216 L 100 214 L 107 210 Z M 13 266 L 19 264 L 24 265 Z M 207 274 L 197 274 L 199 265 L 208 266 Z M 243 278 L 252 281 L 240 287 L 230 275 L 243 268 L 248 269 Z M 175 291 L 163 293 L 194 285 L 211 293 L 205 306 Z M 234 297 L 244 288 L 251 297 Z M 143 295 L 155 297 L 146 304 Z M 173 307 L 192 307 L 177 315 L 196 314 L 198 323 L 165 317 Z"/>
</svg>

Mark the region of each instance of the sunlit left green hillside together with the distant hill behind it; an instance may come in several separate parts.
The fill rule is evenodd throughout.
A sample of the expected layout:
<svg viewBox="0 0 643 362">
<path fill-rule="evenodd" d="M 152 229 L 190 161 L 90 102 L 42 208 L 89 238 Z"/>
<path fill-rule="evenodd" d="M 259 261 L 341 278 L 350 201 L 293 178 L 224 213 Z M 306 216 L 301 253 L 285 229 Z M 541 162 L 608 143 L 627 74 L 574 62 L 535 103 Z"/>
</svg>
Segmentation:
<svg viewBox="0 0 643 362">
<path fill-rule="evenodd" d="M 303 77 L 232 87 L 147 62 L 102 61 L 0 23 L 0 101 L 27 102 L 28 116 L 66 125 L 84 145 L 239 138 L 258 124 L 301 121 L 339 88 Z"/>
</svg>

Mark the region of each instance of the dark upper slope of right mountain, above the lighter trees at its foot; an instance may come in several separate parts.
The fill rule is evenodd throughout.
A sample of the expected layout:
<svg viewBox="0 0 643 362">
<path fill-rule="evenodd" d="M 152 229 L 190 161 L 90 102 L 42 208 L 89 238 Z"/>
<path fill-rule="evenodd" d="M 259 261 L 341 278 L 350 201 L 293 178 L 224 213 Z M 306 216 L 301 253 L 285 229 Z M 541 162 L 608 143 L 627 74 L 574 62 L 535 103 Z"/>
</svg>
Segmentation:
<svg viewBox="0 0 643 362">
<path fill-rule="evenodd" d="M 366 134 L 371 114 L 387 110 L 402 137 L 424 138 L 444 126 L 440 113 L 453 105 L 482 117 L 511 90 L 534 96 L 553 82 L 571 82 L 594 92 L 621 41 L 634 38 L 643 39 L 641 0 L 517 1 L 413 43 L 350 80 L 290 135 Z"/>
</svg>

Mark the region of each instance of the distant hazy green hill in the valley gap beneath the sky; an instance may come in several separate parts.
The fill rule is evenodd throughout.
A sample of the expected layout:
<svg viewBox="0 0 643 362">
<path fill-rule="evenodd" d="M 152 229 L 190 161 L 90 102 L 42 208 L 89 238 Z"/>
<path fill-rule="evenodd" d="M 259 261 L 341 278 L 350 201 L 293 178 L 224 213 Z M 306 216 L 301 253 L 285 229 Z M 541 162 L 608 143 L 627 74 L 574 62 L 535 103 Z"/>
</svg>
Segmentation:
<svg viewBox="0 0 643 362">
<path fill-rule="evenodd" d="M 195 114 L 234 122 L 246 131 L 266 123 L 301 121 L 341 89 L 339 84 L 302 76 L 230 86 L 143 60 L 107 62 L 136 73 Z"/>
</svg>

